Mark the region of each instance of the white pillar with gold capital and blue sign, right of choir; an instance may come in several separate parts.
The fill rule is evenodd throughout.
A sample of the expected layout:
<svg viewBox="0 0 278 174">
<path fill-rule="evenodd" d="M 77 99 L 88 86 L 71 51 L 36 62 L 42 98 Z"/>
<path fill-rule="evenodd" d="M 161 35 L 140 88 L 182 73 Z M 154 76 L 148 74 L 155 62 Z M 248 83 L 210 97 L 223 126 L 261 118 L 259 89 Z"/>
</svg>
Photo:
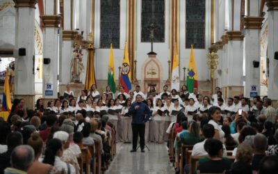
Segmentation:
<svg viewBox="0 0 278 174">
<path fill-rule="evenodd" d="M 245 25 L 245 89 L 244 96 L 251 100 L 260 95 L 261 82 L 261 24 L 263 17 L 259 17 L 259 0 L 250 1 L 248 16 L 244 17 Z M 257 63 L 255 68 L 254 63 Z"/>
</svg>

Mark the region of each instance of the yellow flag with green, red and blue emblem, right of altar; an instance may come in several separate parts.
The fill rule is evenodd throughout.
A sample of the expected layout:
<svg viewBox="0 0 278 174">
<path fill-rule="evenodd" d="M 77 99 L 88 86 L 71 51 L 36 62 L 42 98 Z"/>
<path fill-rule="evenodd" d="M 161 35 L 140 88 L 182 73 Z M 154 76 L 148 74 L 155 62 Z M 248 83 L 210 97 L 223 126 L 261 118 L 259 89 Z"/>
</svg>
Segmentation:
<svg viewBox="0 0 278 174">
<path fill-rule="evenodd" d="M 191 45 L 191 52 L 186 77 L 186 86 L 188 87 L 189 93 L 193 93 L 193 88 L 198 87 L 197 70 L 193 54 L 193 45 Z"/>
</svg>

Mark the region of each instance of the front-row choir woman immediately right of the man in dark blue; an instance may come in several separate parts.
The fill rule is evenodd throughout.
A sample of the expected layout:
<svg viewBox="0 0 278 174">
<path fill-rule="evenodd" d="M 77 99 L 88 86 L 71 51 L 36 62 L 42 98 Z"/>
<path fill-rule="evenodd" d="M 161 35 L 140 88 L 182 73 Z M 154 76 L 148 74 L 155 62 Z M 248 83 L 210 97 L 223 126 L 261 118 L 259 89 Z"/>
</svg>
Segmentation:
<svg viewBox="0 0 278 174">
<path fill-rule="evenodd" d="M 163 143 L 165 132 L 165 108 L 161 99 L 157 100 L 156 107 L 152 113 L 151 132 L 154 133 L 154 141 Z M 151 138 L 152 139 L 152 138 Z"/>
</svg>

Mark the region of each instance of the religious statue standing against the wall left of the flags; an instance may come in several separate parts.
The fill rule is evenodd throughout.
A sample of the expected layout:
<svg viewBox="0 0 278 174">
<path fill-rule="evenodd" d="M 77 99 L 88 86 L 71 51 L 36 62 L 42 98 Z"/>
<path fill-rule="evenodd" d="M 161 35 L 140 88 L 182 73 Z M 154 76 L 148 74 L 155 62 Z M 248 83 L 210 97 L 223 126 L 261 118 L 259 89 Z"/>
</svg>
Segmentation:
<svg viewBox="0 0 278 174">
<path fill-rule="evenodd" d="M 82 49 L 75 49 L 72 62 L 70 63 L 71 70 L 71 81 L 74 83 L 81 83 L 80 75 L 84 72 L 85 68 L 82 63 Z"/>
</svg>

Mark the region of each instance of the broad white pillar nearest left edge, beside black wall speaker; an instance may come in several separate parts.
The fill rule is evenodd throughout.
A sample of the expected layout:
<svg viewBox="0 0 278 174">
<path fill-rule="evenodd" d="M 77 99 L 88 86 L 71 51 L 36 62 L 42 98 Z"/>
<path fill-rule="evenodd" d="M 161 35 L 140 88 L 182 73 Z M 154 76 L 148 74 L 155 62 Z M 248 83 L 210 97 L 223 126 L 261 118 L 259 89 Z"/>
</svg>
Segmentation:
<svg viewBox="0 0 278 174">
<path fill-rule="evenodd" d="M 35 76 L 33 73 L 35 58 L 35 0 L 14 0 L 17 8 L 15 49 L 24 48 L 25 56 L 15 58 L 15 97 L 23 98 L 28 109 L 34 107 Z"/>
</svg>

